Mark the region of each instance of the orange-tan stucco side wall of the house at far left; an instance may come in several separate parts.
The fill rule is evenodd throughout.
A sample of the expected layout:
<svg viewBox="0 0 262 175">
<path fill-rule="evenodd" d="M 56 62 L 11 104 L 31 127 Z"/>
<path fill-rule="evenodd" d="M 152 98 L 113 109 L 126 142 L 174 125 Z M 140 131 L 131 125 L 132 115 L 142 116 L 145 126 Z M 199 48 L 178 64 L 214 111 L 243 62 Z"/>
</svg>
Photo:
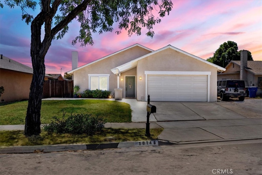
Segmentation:
<svg viewBox="0 0 262 175">
<path fill-rule="evenodd" d="M 28 99 L 32 76 L 31 73 L 0 69 L 0 86 L 4 87 L 0 101 L 14 102 Z M 45 77 L 45 80 L 47 79 Z"/>
</svg>

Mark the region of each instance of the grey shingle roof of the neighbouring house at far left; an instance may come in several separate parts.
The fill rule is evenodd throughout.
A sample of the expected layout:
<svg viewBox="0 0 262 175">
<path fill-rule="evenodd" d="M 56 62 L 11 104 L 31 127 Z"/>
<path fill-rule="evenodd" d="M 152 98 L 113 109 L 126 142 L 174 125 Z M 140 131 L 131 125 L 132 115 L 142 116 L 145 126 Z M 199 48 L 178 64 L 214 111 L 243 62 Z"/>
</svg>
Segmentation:
<svg viewBox="0 0 262 175">
<path fill-rule="evenodd" d="M 15 60 L 12 60 L 6 56 L 3 56 L 3 59 L 0 59 L 0 68 L 8 69 L 18 72 L 33 73 L 33 68 L 26 66 L 22 63 L 19 63 Z M 50 75 L 45 75 L 46 77 L 52 77 Z"/>
</svg>

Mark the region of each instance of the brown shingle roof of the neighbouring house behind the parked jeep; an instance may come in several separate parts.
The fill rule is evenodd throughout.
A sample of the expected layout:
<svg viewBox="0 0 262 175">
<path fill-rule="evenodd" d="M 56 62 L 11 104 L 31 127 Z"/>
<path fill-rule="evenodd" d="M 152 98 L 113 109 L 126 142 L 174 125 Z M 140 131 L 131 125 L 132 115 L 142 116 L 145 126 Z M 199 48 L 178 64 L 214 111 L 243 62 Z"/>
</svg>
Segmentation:
<svg viewBox="0 0 262 175">
<path fill-rule="evenodd" d="M 241 61 L 230 61 L 225 68 L 229 67 L 231 63 L 241 66 Z M 262 61 L 247 61 L 247 67 L 245 67 L 245 70 L 254 75 L 262 75 Z"/>
</svg>

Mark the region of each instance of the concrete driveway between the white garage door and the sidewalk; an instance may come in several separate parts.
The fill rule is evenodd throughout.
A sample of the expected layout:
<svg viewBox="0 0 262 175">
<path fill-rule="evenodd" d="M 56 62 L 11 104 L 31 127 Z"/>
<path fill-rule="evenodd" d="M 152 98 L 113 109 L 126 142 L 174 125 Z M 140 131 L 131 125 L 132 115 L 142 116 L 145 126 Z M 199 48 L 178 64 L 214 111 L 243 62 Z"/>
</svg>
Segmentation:
<svg viewBox="0 0 262 175">
<path fill-rule="evenodd" d="M 243 102 L 151 102 L 157 121 L 261 118 L 262 100 Z"/>
</svg>

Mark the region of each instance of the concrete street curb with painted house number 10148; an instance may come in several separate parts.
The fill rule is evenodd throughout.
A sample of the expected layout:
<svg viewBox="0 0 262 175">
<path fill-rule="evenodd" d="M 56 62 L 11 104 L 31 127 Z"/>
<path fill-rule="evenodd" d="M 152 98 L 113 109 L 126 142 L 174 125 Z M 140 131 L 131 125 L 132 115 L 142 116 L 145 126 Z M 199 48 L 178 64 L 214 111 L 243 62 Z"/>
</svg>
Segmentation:
<svg viewBox="0 0 262 175">
<path fill-rule="evenodd" d="M 140 141 L 141 142 L 141 141 Z M 136 147 L 134 141 L 112 142 L 105 144 L 61 144 L 61 145 L 36 145 L 36 146 L 9 146 L 0 147 L 0 153 L 39 153 L 54 151 L 75 151 L 75 150 L 97 150 L 97 149 L 116 149 L 124 147 Z M 160 146 L 146 145 L 146 146 Z"/>
</svg>

